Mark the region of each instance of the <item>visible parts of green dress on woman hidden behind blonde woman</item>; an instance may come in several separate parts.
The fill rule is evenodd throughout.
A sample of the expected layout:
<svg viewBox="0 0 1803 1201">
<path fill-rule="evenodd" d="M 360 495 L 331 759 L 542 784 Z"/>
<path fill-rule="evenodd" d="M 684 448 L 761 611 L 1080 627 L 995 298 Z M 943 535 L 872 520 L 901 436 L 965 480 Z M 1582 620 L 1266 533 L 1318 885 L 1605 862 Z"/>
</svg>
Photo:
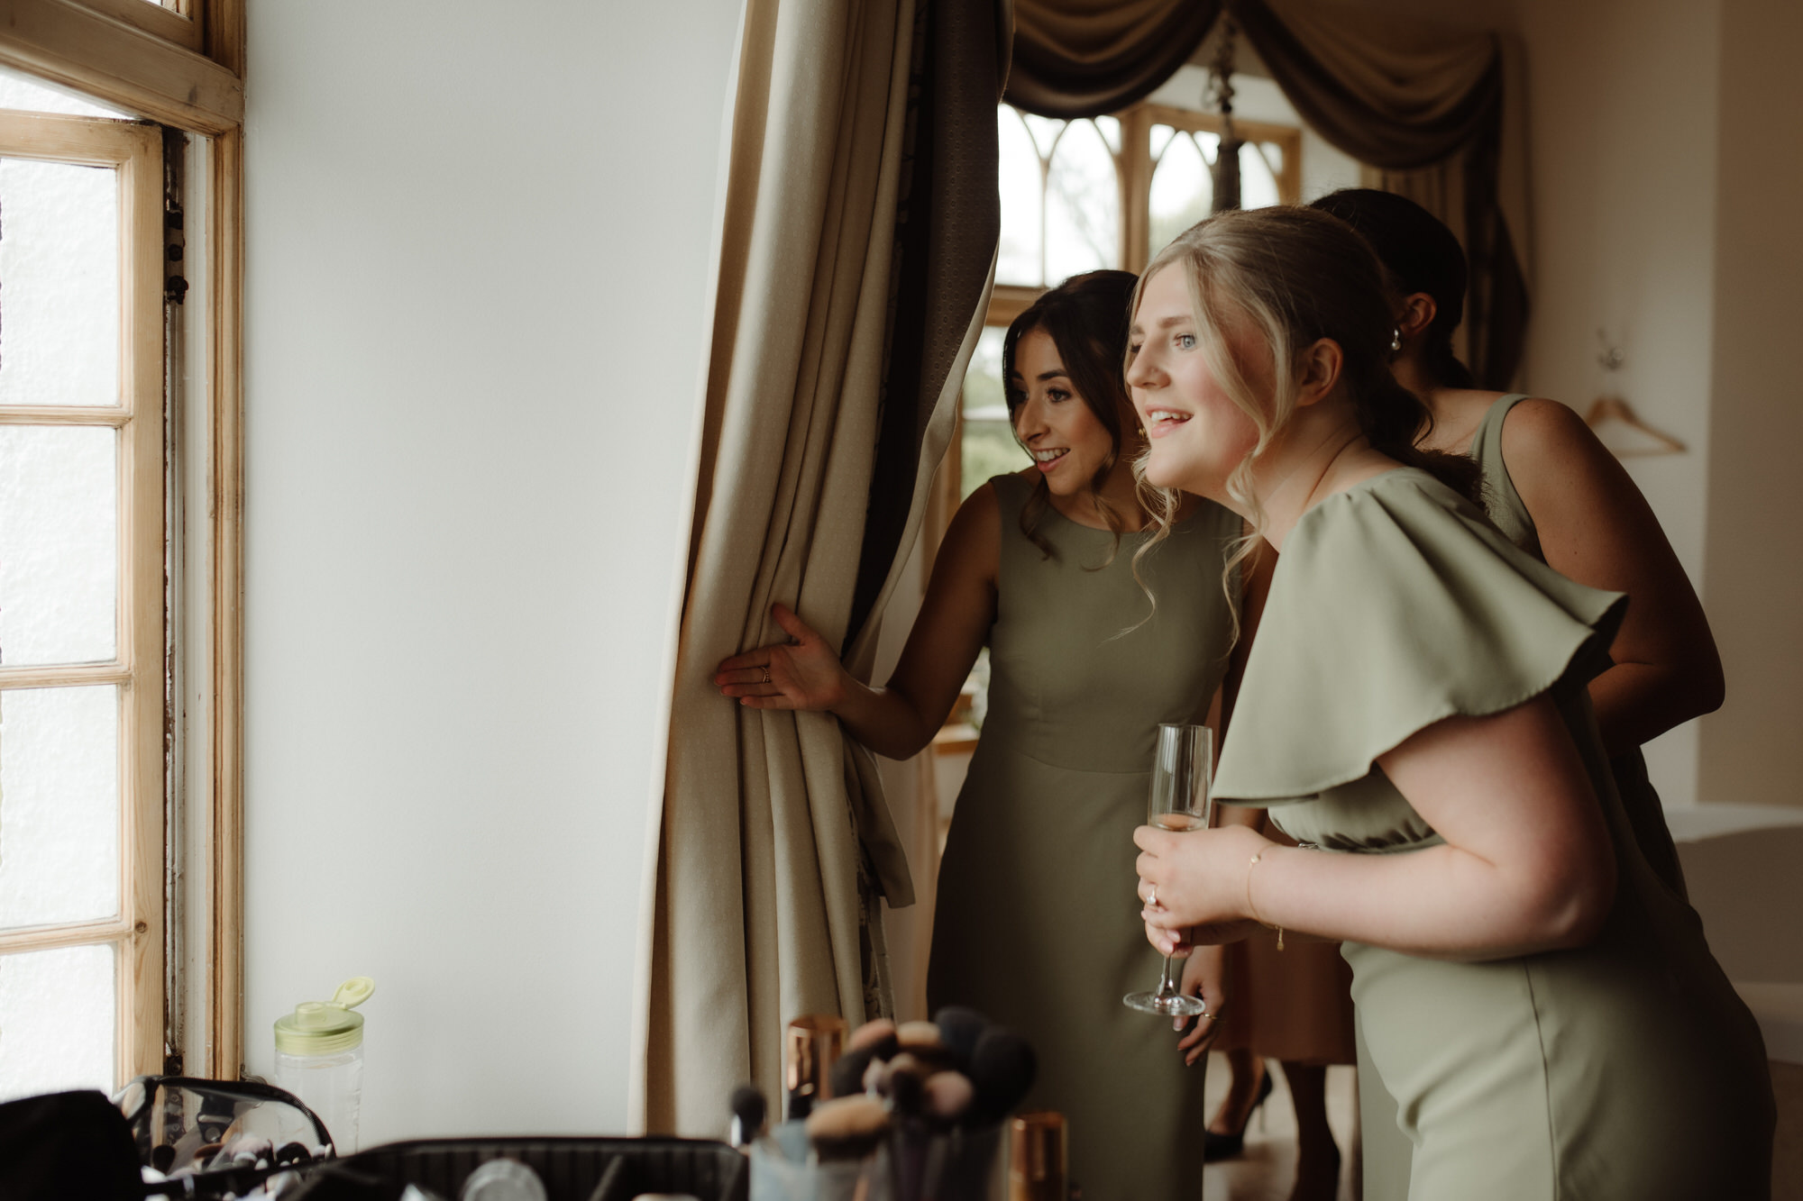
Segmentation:
<svg viewBox="0 0 1803 1201">
<path fill-rule="evenodd" d="M 1484 413 L 1477 433 L 1471 435 L 1466 454 L 1477 460 L 1484 472 L 1484 509 L 1489 512 L 1491 523 L 1511 543 L 1545 563 L 1534 518 L 1515 490 L 1509 465 L 1502 458 L 1502 424 L 1509 411 L 1525 399 L 1524 391 L 1498 397 Z M 1666 887 L 1680 898 L 1688 898 L 1679 851 L 1666 828 L 1664 806 L 1659 804 L 1659 793 L 1646 775 L 1646 757 L 1635 748 L 1615 756 L 1608 766 L 1615 777 L 1615 793 L 1621 797 L 1621 808 L 1634 828 L 1641 857 Z M 1368 1055 L 1361 1055 L 1359 1064 L 1365 1066 L 1367 1059 Z M 1372 1071 L 1359 1073 L 1359 1118 L 1365 1143 L 1365 1197 L 1367 1201 L 1401 1201 L 1408 1196 L 1410 1147 L 1396 1131 L 1396 1102 L 1383 1091 Z"/>
</svg>

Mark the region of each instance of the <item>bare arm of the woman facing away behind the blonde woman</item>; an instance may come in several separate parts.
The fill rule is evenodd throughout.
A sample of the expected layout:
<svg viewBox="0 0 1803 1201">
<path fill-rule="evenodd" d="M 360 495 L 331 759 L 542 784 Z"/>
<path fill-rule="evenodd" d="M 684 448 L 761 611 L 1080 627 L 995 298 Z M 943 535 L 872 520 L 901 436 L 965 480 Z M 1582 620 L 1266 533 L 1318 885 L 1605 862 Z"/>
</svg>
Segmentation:
<svg viewBox="0 0 1803 1201">
<path fill-rule="evenodd" d="M 1646 498 L 1583 418 L 1556 400 L 1522 400 L 1502 426 L 1502 454 L 1547 564 L 1628 593 L 1615 665 L 1590 682 L 1608 754 L 1720 709 L 1722 656 L 1697 591 Z"/>
</svg>

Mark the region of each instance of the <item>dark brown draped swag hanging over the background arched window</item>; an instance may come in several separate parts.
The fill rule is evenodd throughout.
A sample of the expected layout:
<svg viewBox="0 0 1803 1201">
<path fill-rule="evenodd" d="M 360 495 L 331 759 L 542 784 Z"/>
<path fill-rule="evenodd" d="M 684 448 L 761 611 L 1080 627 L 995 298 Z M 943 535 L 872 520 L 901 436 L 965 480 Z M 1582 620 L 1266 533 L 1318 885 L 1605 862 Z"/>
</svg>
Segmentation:
<svg viewBox="0 0 1803 1201">
<path fill-rule="evenodd" d="M 1516 130 L 1498 36 L 1403 29 L 1320 0 L 1015 0 L 1013 16 L 1004 99 L 1066 119 L 1143 99 L 1231 18 L 1316 133 L 1459 234 L 1471 260 L 1462 352 L 1482 386 L 1509 386 L 1527 323 L 1525 204 L 1520 155 L 1506 153 L 1506 124 Z"/>
</svg>

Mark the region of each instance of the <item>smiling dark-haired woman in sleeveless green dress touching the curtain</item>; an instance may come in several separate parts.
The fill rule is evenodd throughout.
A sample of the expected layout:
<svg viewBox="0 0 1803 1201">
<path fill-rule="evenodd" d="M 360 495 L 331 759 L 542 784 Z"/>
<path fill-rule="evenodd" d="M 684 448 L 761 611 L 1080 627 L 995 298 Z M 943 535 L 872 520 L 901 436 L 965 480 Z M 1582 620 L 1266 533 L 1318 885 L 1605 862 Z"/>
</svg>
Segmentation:
<svg viewBox="0 0 1803 1201">
<path fill-rule="evenodd" d="M 790 646 L 719 665 L 721 692 L 824 709 L 905 759 L 945 723 L 983 646 L 990 705 L 957 795 L 932 923 L 929 1010 L 968 1004 L 1031 1039 L 1030 1107 L 1069 1120 L 1071 1179 L 1103 1201 L 1199 1201 L 1203 1073 L 1165 1021 L 1121 1004 L 1158 983 L 1132 862 L 1161 721 L 1201 721 L 1226 671 L 1222 568 L 1240 519 L 1186 501 L 1156 552 L 1120 370 L 1134 276 L 1067 280 L 1008 330 L 1015 436 L 1033 456 L 957 510 L 894 674 L 860 683 L 788 610 Z M 1139 581 L 1158 597 L 1150 597 Z M 1199 956 L 1185 990 L 1199 990 Z M 1203 992 L 1212 1010 L 1219 994 Z M 1197 1022 L 1183 1044 L 1206 1037 Z"/>
</svg>

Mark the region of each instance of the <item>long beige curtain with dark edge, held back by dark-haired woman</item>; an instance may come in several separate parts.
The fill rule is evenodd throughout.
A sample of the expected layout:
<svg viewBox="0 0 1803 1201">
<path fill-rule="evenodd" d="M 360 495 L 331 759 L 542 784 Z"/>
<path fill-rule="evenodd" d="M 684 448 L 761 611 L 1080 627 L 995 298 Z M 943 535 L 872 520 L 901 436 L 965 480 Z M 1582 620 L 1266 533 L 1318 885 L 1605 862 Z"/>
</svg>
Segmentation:
<svg viewBox="0 0 1803 1201">
<path fill-rule="evenodd" d="M 773 600 L 867 669 L 993 269 L 995 78 L 990 0 L 746 4 L 638 1129 L 718 1136 L 739 1080 L 781 1096 L 790 1017 L 887 1004 L 880 898 L 912 885 L 874 765 L 829 714 L 741 709 L 712 671 L 783 638 Z"/>
</svg>

